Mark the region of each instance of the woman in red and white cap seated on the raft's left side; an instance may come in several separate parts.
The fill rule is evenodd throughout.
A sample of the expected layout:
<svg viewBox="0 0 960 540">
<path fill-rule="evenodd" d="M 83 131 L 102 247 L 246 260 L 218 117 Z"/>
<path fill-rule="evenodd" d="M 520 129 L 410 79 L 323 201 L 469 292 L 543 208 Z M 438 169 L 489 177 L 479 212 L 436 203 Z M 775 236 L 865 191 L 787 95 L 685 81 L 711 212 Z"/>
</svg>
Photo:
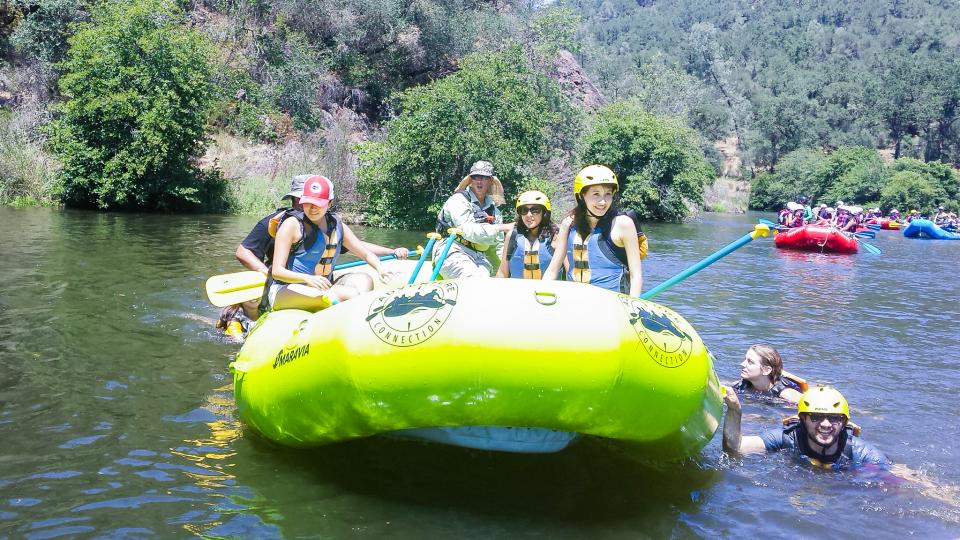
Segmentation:
<svg viewBox="0 0 960 540">
<path fill-rule="evenodd" d="M 381 281 L 390 276 L 340 217 L 329 212 L 333 182 L 311 176 L 300 197 L 302 212 L 290 212 L 277 228 L 273 248 L 269 301 L 274 309 L 318 310 L 373 288 L 363 274 L 334 278 L 333 267 L 344 247 L 376 270 Z"/>
</svg>

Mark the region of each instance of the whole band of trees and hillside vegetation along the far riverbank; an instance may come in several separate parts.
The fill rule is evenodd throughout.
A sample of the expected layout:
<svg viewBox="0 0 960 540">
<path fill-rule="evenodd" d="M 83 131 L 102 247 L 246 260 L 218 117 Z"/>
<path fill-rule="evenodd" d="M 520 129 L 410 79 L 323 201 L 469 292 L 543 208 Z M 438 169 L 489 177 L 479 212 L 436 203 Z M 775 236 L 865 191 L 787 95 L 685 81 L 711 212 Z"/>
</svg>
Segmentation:
<svg viewBox="0 0 960 540">
<path fill-rule="evenodd" d="M 0 204 L 262 215 L 312 172 L 351 222 L 422 227 L 488 159 L 559 211 L 603 163 L 653 221 L 960 209 L 960 13 L 936 2 L 319 1 L 12 5 Z"/>
</svg>

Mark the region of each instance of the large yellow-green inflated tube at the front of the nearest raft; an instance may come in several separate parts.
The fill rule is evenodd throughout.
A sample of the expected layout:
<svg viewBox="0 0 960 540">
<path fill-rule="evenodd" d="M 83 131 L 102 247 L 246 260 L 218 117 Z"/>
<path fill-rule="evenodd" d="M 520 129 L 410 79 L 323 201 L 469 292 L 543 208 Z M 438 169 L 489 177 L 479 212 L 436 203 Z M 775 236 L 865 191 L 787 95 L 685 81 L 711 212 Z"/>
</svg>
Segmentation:
<svg viewBox="0 0 960 540">
<path fill-rule="evenodd" d="M 442 281 L 276 311 L 231 367 L 242 420 L 290 446 L 515 426 L 677 458 L 721 413 L 709 352 L 683 318 L 562 281 Z"/>
</svg>

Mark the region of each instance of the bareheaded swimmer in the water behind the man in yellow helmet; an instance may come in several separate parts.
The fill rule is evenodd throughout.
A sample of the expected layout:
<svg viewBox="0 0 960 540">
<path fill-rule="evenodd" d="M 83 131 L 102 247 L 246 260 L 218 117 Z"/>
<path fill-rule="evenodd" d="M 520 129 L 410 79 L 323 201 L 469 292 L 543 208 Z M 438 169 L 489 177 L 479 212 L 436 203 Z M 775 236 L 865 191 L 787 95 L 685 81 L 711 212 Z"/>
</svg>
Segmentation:
<svg viewBox="0 0 960 540">
<path fill-rule="evenodd" d="M 807 390 L 807 382 L 783 370 L 783 359 L 776 349 L 758 343 L 747 349 L 740 362 L 740 382 L 732 388 L 738 394 L 760 394 L 797 403 Z"/>
</svg>

